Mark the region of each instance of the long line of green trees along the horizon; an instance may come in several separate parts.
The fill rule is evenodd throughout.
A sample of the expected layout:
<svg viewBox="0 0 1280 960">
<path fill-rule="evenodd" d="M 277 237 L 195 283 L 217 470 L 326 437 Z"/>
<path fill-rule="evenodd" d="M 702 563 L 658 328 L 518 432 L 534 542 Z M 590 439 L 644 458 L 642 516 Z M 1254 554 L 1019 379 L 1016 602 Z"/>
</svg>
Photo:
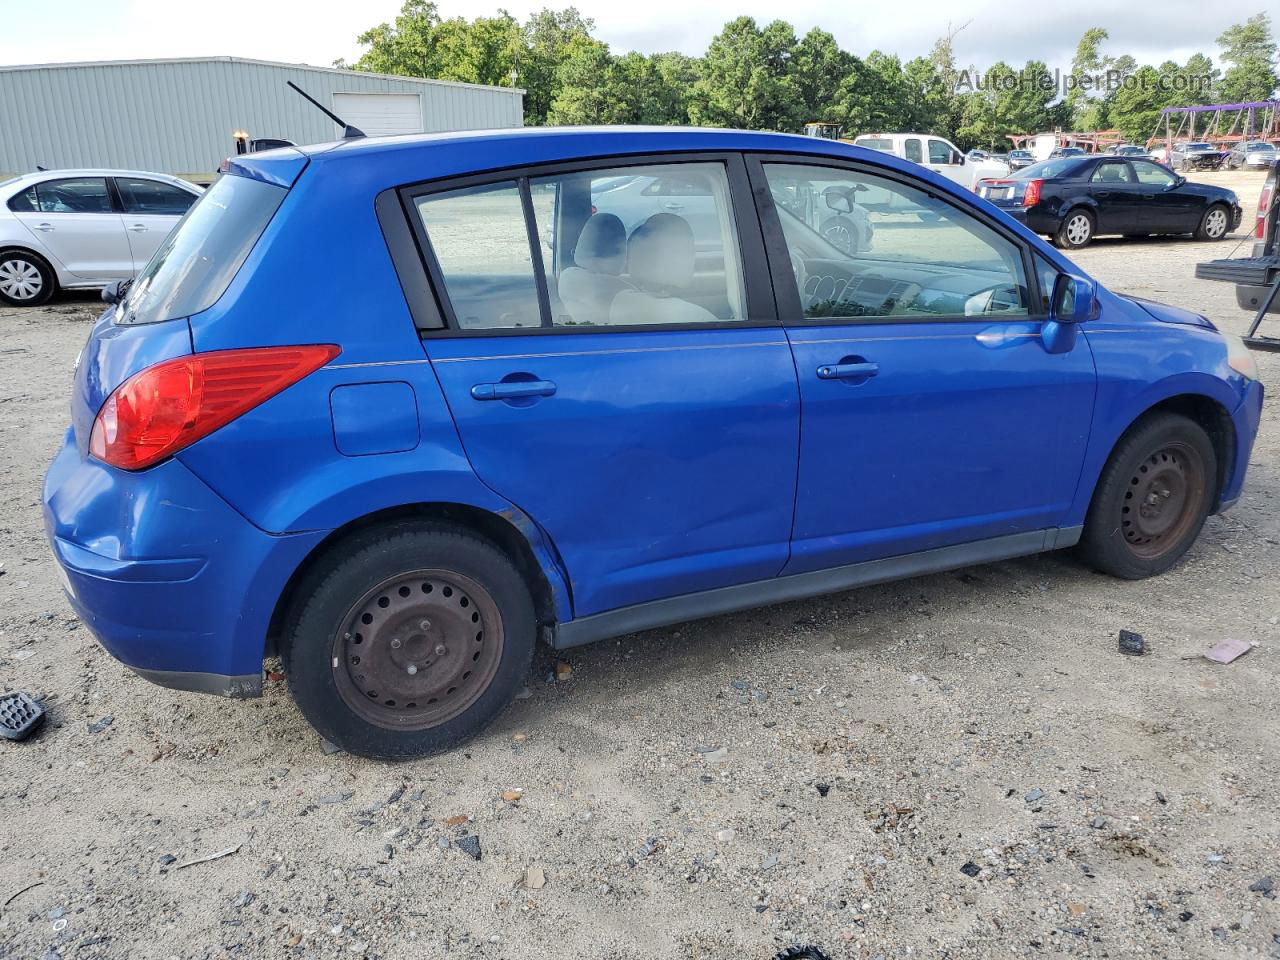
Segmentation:
<svg viewBox="0 0 1280 960">
<path fill-rule="evenodd" d="M 902 61 L 873 50 L 858 56 L 814 27 L 739 17 L 703 56 L 678 52 L 614 54 L 594 36 L 595 23 L 575 8 L 544 9 L 521 23 L 493 17 L 443 18 L 431 0 L 406 0 L 394 23 L 358 38 L 355 64 L 375 73 L 518 86 L 525 123 L 692 124 L 800 131 L 840 124 L 846 136 L 872 131 L 941 133 L 963 147 L 1009 147 L 1009 133 L 1055 128 L 1117 128 L 1133 141 L 1152 136 L 1166 106 L 1268 100 L 1280 86 L 1267 14 L 1228 28 L 1217 65 L 1206 54 L 1187 63 L 1138 64 L 1106 51 L 1107 31 L 1084 32 L 1068 79 L 1039 60 L 992 64 L 982 76 L 957 65 L 956 36 L 937 40 L 928 56 Z M 1108 78 L 1089 88 L 1094 76 Z M 1064 87 L 1066 87 L 1064 95 Z"/>
</svg>

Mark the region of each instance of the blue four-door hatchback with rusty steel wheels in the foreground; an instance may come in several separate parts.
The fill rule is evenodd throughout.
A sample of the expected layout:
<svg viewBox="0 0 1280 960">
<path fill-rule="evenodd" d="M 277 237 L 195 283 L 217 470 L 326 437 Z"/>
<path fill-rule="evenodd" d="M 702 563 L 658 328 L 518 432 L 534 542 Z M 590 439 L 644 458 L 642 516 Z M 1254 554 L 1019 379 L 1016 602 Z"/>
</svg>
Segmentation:
<svg viewBox="0 0 1280 960">
<path fill-rule="evenodd" d="M 867 223 L 837 244 L 832 215 Z M 919 165 L 536 129 L 237 157 L 78 361 L 77 613 L 343 748 L 461 744 L 539 637 L 1078 545 L 1144 577 L 1240 494 L 1262 387 Z"/>
</svg>

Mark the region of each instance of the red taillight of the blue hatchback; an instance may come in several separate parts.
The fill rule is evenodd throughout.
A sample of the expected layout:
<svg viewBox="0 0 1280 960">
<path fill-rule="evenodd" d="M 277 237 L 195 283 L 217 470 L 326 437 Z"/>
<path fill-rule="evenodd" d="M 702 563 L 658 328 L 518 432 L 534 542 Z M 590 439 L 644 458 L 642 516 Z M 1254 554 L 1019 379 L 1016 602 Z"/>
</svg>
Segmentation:
<svg viewBox="0 0 1280 960">
<path fill-rule="evenodd" d="M 97 412 L 88 452 L 142 470 L 229 424 L 328 364 L 333 344 L 221 349 L 177 357 L 122 383 Z"/>
</svg>

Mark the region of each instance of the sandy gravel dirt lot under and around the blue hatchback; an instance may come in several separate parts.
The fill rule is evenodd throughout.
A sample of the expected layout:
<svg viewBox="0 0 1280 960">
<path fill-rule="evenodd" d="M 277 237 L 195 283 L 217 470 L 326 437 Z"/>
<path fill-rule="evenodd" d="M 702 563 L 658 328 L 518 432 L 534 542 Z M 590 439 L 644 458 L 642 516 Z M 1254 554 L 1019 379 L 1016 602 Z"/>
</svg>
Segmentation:
<svg viewBox="0 0 1280 960">
<path fill-rule="evenodd" d="M 1192 278 L 1233 246 L 1078 261 L 1239 332 Z M 0 310 L 0 686 L 51 717 L 0 742 L 0 957 L 1280 951 L 1275 404 L 1243 500 L 1164 577 L 1048 556 L 611 641 L 563 681 L 545 655 L 468 750 L 385 765 L 326 755 L 278 678 L 161 690 L 72 617 L 40 480 L 96 311 Z M 1258 646 L 1197 657 L 1221 637 Z"/>
</svg>

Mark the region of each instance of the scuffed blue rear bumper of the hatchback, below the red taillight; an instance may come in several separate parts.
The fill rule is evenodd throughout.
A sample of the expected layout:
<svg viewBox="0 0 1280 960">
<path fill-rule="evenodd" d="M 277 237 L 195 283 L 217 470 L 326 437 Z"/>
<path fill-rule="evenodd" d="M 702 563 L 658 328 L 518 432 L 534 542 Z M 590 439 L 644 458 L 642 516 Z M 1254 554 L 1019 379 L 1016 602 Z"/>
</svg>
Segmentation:
<svg viewBox="0 0 1280 960">
<path fill-rule="evenodd" d="M 44 506 L 67 596 L 108 653 L 164 686 L 261 692 L 276 600 L 325 531 L 264 532 L 178 461 L 115 470 L 70 431 Z"/>
</svg>

